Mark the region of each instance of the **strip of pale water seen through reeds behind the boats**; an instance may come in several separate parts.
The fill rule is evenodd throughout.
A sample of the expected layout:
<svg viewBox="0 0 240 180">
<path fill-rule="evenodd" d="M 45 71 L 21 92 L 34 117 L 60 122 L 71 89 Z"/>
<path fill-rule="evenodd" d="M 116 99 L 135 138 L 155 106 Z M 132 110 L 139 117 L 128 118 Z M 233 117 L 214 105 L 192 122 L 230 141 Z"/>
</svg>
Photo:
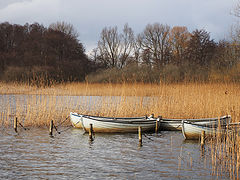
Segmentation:
<svg viewBox="0 0 240 180">
<path fill-rule="evenodd" d="M 126 97 L 125 97 L 126 98 Z M 70 111 L 101 111 L 102 105 L 104 108 L 116 109 L 119 103 L 124 98 L 121 96 L 48 96 L 48 95 L 1 95 L 0 94 L 0 113 L 6 112 L 12 116 L 16 112 L 21 116 L 25 116 L 27 111 L 39 111 L 39 107 L 46 107 L 58 112 Z M 148 106 L 148 103 L 154 97 L 127 97 L 127 102 L 138 104 L 140 101 L 143 106 Z M 125 100 L 124 100 L 125 101 Z M 23 119 L 22 119 L 23 120 Z"/>
</svg>

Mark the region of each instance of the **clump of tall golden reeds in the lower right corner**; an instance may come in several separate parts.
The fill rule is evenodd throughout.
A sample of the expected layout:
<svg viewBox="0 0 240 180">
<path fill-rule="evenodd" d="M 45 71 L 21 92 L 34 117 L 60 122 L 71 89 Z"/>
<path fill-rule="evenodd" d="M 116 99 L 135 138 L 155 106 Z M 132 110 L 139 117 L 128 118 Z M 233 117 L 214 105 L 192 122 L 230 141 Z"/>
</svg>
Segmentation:
<svg viewBox="0 0 240 180">
<path fill-rule="evenodd" d="M 224 134 L 208 137 L 205 150 L 210 154 L 212 175 L 220 179 L 239 179 L 240 126 L 227 127 Z"/>
</svg>

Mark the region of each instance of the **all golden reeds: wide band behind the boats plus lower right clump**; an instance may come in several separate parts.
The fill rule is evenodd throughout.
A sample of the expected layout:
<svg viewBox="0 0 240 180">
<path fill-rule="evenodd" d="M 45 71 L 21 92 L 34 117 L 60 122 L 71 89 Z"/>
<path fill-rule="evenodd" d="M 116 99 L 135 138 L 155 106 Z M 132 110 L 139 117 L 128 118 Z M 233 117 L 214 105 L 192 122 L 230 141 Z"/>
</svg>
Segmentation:
<svg viewBox="0 0 240 180">
<path fill-rule="evenodd" d="M 102 116 L 205 118 L 231 115 L 240 121 L 240 84 L 88 84 L 66 83 L 51 87 L 0 83 L 0 126 L 12 126 L 13 119 L 24 126 L 48 126 L 63 122 L 69 113 Z M 67 121 L 65 125 L 69 125 Z M 228 173 L 238 179 L 240 137 L 236 128 L 224 136 L 208 139 L 212 173 Z M 239 129 L 239 127 L 237 128 Z"/>
</svg>

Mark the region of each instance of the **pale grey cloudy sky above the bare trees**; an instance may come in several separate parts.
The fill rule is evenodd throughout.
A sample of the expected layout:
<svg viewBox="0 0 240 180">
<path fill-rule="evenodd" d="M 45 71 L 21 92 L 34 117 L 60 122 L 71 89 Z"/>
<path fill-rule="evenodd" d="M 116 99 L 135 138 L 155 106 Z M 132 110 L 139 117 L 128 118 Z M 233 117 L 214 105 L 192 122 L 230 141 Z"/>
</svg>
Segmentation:
<svg viewBox="0 0 240 180">
<path fill-rule="evenodd" d="M 71 23 L 87 51 L 96 47 L 101 30 L 125 23 L 135 33 L 158 22 L 205 29 L 213 39 L 227 36 L 236 17 L 237 0 L 0 0 L 0 22 L 38 22 L 47 27 L 57 21 Z"/>
</svg>

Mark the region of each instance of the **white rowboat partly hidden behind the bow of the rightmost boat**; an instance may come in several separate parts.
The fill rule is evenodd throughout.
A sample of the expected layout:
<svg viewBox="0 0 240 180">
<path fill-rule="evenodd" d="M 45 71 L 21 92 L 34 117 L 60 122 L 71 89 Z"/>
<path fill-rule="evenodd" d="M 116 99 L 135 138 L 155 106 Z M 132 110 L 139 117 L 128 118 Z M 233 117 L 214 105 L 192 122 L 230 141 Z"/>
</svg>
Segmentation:
<svg viewBox="0 0 240 180">
<path fill-rule="evenodd" d="M 181 131 L 182 121 L 194 122 L 196 124 L 214 124 L 218 120 L 226 120 L 230 122 L 231 116 L 222 116 L 216 118 L 201 118 L 201 119 L 164 119 L 160 118 L 160 129 L 163 131 Z"/>
</svg>

